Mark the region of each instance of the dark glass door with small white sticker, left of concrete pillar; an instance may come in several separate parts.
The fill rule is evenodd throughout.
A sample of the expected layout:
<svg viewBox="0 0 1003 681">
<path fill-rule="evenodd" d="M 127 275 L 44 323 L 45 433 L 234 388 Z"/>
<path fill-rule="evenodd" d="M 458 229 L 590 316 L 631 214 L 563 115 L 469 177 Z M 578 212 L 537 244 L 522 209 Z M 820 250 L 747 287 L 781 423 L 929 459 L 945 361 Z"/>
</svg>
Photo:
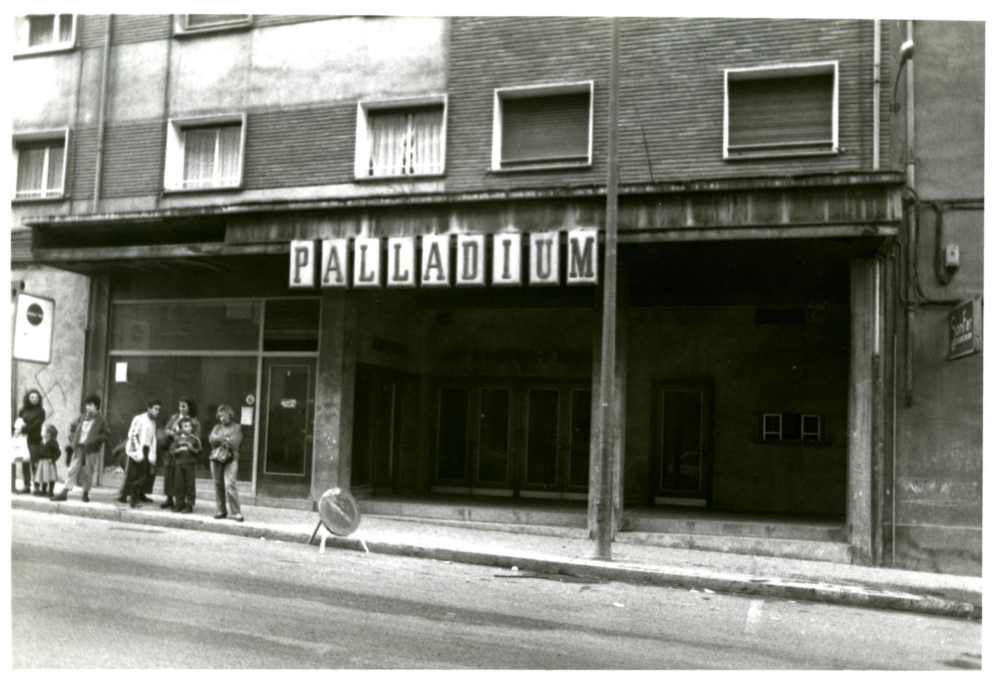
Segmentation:
<svg viewBox="0 0 1003 681">
<path fill-rule="evenodd" d="M 316 375 L 317 360 L 313 357 L 270 357 L 263 361 L 259 491 L 309 494 Z"/>
</svg>

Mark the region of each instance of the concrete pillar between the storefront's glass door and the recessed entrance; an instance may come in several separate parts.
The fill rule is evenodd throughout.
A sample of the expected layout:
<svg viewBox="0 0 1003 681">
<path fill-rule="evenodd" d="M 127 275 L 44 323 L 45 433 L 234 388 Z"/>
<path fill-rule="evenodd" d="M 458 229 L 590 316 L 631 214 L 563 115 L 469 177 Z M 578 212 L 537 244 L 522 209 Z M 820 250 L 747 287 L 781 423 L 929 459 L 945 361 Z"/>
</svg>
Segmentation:
<svg viewBox="0 0 1003 681">
<path fill-rule="evenodd" d="M 348 291 L 321 297 L 320 365 L 314 416 L 314 467 L 311 496 L 331 487 L 350 488 L 358 306 Z"/>
</svg>

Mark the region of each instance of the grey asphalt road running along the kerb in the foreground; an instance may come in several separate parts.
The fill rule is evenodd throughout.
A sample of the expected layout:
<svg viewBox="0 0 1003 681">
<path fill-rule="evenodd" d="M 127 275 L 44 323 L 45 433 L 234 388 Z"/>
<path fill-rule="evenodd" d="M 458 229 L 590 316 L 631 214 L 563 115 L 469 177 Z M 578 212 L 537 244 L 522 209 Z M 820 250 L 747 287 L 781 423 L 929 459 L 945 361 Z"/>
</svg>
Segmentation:
<svg viewBox="0 0 1003 681">
<path fill-rule="evenodd" d="M 15 668 L 957 670 L 982 661 L 981 624 L 952 618 L 12 517 Z"/>
</svg>

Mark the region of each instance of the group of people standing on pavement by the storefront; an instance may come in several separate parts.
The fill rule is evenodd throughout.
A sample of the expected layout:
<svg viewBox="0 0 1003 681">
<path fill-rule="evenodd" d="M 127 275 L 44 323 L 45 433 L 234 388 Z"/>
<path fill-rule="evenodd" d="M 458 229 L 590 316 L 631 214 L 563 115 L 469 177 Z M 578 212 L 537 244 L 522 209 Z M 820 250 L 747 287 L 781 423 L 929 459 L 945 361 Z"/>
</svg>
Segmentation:
<svg viewBox="0 0 1003 681">
<path fill-rule="evenodd" d="M 22 490 L 17 490 L 14 485 L 15 470 L 12 468 L 11 491 L 27 493 L 31 491 L 34 480 L 32 493 L 48 496 L 53 501 L 65 501 L 69 492 L 79 483 L 83 490 L 83 500 L 89 501 L 101 447 L 108 444 L 109 438 L 108 424 L 101 415 L 100 408 L 101 398 L 88 395 L 84 400 L 83 413 L 70 425 L 69 442 L 65 449 L 69 470 L 62 490 L 55 494 L 55 462 L 60 453 L 58 432 L 51 423 L 45 425 L 43 441 L 45 409 L 42 407 L 42 396 L 38 390 L 28 390 L 15 422 L 15 438 L 23 436 L 26 439 L 30 457 L 28 460 L 22 457 Z M 190 397 L 182 397 L 178 413 L 168 420 L 163 429 L 158 429 L 156 419 L 160 408 L 159 400 L 150 400 L 146 403 L 146 410 L 136 415 L 129 425 L 124 442 L 125 481 L 119 490 L 118 501 L 127 502 L 133 508 L 140 501 L 152 501 L 147 494 L 153 491 L 159 453 L 164 464 L 163 494 L 166 497 L 160 507 L 190 514 L 196 500 L 196 465 L 200 457 L 205 455 L 201 439 L 202 423 L 195 401 Z M 216 487 L 216 519 L 229 517 L 243 522 L 237 493 L 237 465 L 244 435 L 240 424 L 234 421 L 232 408 L 226 404 L 221 405 L 216 416 L 219 423 L 209 434 L 208 454 Z"/>
</svg>

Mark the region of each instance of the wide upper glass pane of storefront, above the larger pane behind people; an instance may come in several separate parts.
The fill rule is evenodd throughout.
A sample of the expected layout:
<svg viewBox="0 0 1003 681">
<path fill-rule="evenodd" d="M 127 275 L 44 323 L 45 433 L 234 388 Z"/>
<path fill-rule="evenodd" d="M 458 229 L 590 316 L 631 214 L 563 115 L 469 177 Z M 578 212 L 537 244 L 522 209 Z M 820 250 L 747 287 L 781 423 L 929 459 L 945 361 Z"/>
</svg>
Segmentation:
<svg viewBox="0 0 1003 681">
<path fill-rule="evenodd" d="M 257 350 L 258 301 L 112 306 L 112 350 Z"/>
</svg>

